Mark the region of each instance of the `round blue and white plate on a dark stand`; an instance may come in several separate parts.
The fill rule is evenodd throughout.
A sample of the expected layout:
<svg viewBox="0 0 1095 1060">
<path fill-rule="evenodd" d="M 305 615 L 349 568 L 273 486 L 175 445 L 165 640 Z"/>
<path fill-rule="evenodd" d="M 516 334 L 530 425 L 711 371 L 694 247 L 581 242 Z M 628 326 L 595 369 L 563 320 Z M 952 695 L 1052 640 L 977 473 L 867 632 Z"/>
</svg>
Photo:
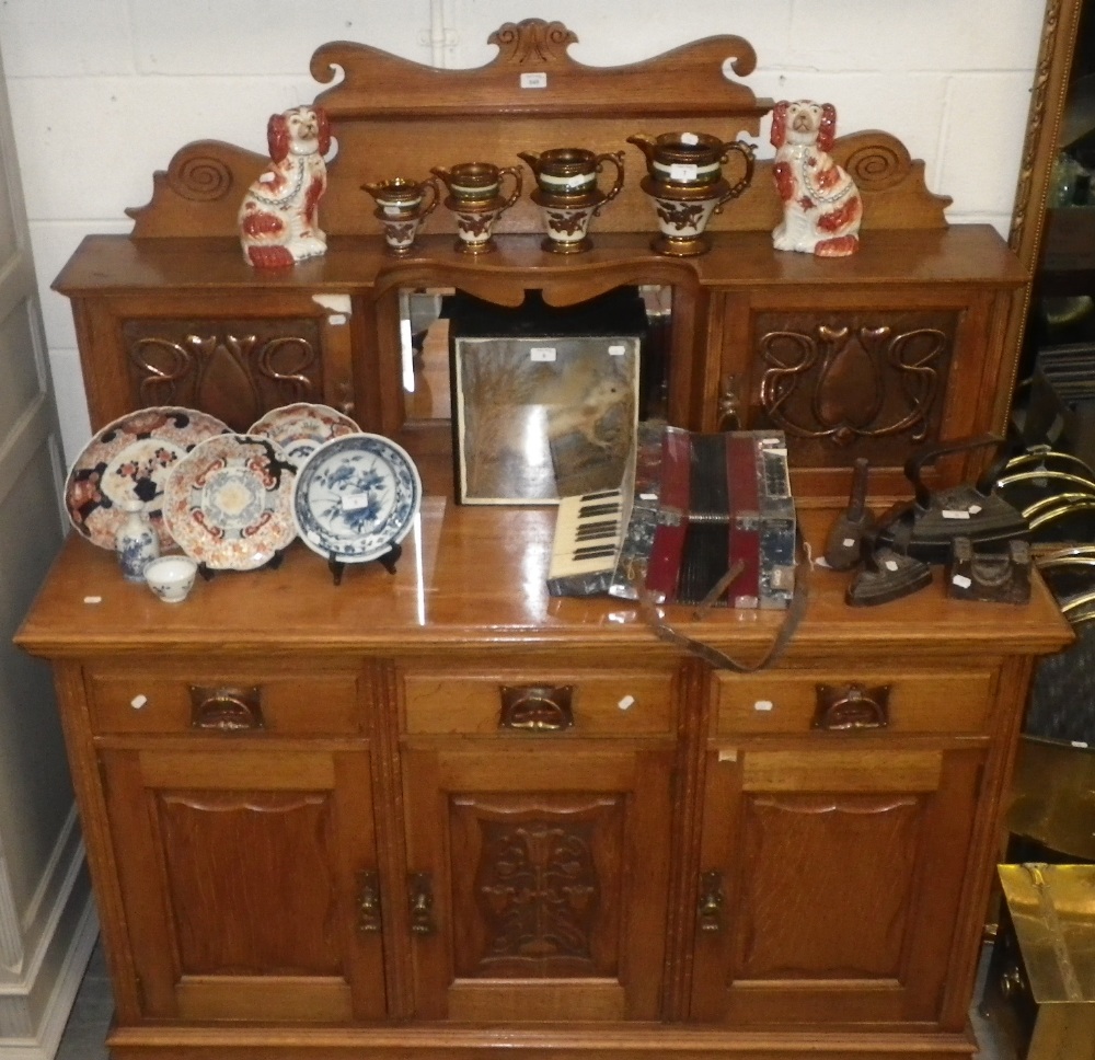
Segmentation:
<svg viewBox="0 0 1095 1060">
<path fill-rule="evenodd" d="M 292 516 L 301 541 L 341 563 L 377 560 L 402 541 L 422 503 L 407 453 L 381 435 L 320 446 L 297 474 Z"/>
</svg>

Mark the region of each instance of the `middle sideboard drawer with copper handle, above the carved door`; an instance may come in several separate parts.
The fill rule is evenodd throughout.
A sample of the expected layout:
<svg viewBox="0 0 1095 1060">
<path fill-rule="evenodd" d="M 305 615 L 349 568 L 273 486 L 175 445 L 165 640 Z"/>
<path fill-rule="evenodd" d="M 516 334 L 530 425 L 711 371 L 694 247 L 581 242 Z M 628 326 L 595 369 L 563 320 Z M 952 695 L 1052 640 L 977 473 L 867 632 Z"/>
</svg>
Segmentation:
<svg viewBox="0 0 1095 1060">
<path fill-rule="evenodd" d="M 403 679 L 406 731 L 662 736 L 672 731 L 673 675 L 415 671 Z"/>
</svg>

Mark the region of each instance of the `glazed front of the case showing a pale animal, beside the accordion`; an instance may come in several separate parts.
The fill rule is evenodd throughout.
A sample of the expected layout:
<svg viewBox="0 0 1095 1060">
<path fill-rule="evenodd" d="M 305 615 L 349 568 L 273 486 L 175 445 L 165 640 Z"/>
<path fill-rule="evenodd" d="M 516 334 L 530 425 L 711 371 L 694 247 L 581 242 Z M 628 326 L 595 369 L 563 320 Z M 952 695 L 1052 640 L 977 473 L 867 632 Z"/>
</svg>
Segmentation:
<svg viewBox="0 0 1095 1060">
<path fill-rule="evenodd" d="M 543 505 L 618 487 L 635 446 L 638 335 L 452 339 L 457 500 Z"/>
</svg>

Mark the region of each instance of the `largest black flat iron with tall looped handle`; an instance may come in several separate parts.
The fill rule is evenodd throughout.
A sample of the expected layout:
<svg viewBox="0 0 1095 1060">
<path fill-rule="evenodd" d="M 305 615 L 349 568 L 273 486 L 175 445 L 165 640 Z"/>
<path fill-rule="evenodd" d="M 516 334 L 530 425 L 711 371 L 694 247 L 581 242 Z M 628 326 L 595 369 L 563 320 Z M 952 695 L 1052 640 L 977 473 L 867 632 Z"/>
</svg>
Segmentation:
<svg viewBox="0 0 1095 1060">
<path fill-rule="evenodd" d="M 963 483 L 934 492 L 924 485 L 924 469 L 941 457 L 987 446 L 993 446 L 999 451 L 976 483 Z M 993 492 L 1006 461 L 1005 442 L 995 435 L 930 446 L 913 453 L 904 464 L 904 474 L 913 485 L 915 499 L 907 517 L 911 518 L 908 548 L 902 551 L 925 563 L 947 563 L 956 538 L 967 538 L 978 549 L 1004 549 L 1008 541 L 1028 540 L 1029 525 L 1022 512 Z M 892 546 L 895 530 L 904 521 L 898 520 L 885 528 L 879 543 Z"/>
</svg>

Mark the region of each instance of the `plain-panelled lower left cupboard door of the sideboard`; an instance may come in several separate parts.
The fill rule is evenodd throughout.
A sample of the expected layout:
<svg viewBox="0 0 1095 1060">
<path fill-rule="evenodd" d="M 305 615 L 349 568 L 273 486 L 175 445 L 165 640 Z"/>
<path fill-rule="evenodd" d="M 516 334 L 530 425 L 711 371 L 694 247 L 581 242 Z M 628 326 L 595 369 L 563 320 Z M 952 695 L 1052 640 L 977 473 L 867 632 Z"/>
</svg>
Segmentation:
<svg viewBox="0 0 1095 1060">
<path fill-rule="evenodd" d="M 102 758 L 145 1015 L 384 1015 L 367 751 Z"/>
</svg>

